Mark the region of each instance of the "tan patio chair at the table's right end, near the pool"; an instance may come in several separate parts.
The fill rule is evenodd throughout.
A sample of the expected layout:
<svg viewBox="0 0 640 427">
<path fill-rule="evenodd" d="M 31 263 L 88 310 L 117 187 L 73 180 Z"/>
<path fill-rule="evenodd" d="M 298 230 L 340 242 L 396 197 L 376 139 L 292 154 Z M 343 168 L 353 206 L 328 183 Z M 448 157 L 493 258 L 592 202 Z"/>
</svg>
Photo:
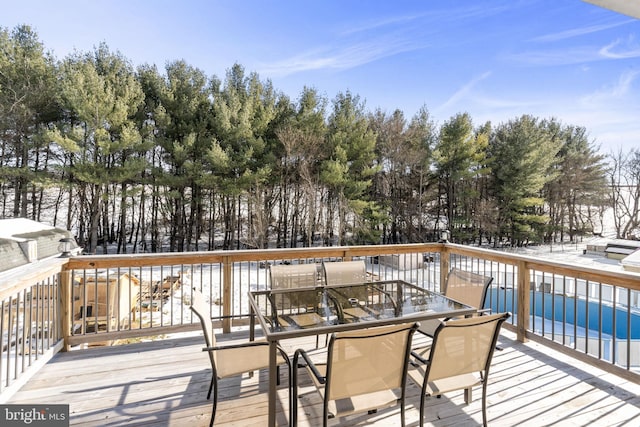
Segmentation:
<svg viewBox="0 0 640 427">
<path fill-rule="evenodd" d="M 476 307 L 478 314 L 486 314 L 490 310 L 484 308 L 484 302 L 491 282 L 493 282 L 493 277 L 453 268 L 447 274 L 444 295 L 447 298 Z M 419 332 L 433 337 L 440 323 L 439 319 L 421 321 Z"/>
</svg>

